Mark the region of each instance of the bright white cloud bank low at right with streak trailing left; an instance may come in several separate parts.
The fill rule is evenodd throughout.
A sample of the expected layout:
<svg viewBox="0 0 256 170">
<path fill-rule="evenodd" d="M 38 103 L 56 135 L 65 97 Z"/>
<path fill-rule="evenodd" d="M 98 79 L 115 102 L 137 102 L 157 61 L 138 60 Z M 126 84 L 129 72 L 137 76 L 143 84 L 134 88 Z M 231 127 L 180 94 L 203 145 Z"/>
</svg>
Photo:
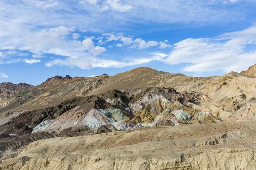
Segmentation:
<svg viewBox="0 0 256 170">
<path fill-rule="evenodd" d="M 121 38 L 119 39 L 121 41 Z M 123 41 L 121 41 L 123 42 Z M 133 40 L 131 44 L 134 48 L 143 49 L 150 46 L 161 45 L 168 41 L 156 42 L 142 40 L 140 38 Z M 122 46 L 124 44 L 117 44 Z M 251 50 L 245 50 L 247 45 L 254 45 Z M 130 47 L 131 47 L 130 46 Z M 251 47 L 251 46 L 250 46 Z M 201 73 L 204 71 L 241 71 L 247 69 L 252 63 L 256 63 L 256 26 L 250 28 L 221 34 L 214 38 L 188 38 L 174 44 L 169 54 L 153 53 L 150 57 L 125 58 L 122 61 L 109 59 L 100 59 L 90 55 L 78 55 L 78 57 L 67 59 L 55 59 L 49 61 L 47 66 L 66 65 L 69 67 L 79 67 L 90 69 L 95 67 L 111 68 L 139 65 L 151 61 L 162 61 L 171 65 L 187 64 L 183 71 Z M 93 51 L 95 50 L 95 51 Z M 105 48 L 99 46 L 91 48 L 89 51 L 94 55 L 105 51 Z M 59 52 L 61 53 L 61 52 Z M 250 62 L 248 62 L 250 61 Z"/>
</svg>

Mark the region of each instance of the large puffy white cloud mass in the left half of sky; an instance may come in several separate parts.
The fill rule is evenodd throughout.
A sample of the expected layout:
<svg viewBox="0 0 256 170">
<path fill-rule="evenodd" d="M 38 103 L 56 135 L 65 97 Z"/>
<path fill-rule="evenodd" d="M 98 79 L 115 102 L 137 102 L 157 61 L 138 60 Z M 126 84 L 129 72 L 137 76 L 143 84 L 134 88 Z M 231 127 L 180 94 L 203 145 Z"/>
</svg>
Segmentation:
<svg viewBox="0 0 256 170">
<path fill-rule="evenodd" d="M 79 57 L 86 56 L 88 52 L 99 55 L 106 51 L 104 47 L 94 46 L 94 42 L 91 39 L 93 37 L 88 37 L 82 41 L 70 40 L 68 37 L 79 36 L 78 34 L 73 34 L 73 31 L 75 31 L 74 28 L 59 26 L 31 32 L 27 37 L 19 39 L 16 48 L 30 51 L 33 53 L 33 58 L 44 57 L 42 54 Z M 12 44 L 13 42 L 10 41 L 9 43 Z"/>
</svg>

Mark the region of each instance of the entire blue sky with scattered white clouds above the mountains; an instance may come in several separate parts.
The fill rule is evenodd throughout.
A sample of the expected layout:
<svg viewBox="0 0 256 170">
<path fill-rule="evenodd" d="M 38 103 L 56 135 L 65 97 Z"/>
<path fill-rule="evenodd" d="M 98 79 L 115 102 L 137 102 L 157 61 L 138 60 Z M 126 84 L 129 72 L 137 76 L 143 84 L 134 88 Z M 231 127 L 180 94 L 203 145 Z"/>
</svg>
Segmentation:
<svg viewBox="0 0 256 170">
<path fill-rule="evenodd" d="M 222 75 L 256 63 L 255 0 L 1 0 L 0 82 L 137 67 Z"/>
</svg>

